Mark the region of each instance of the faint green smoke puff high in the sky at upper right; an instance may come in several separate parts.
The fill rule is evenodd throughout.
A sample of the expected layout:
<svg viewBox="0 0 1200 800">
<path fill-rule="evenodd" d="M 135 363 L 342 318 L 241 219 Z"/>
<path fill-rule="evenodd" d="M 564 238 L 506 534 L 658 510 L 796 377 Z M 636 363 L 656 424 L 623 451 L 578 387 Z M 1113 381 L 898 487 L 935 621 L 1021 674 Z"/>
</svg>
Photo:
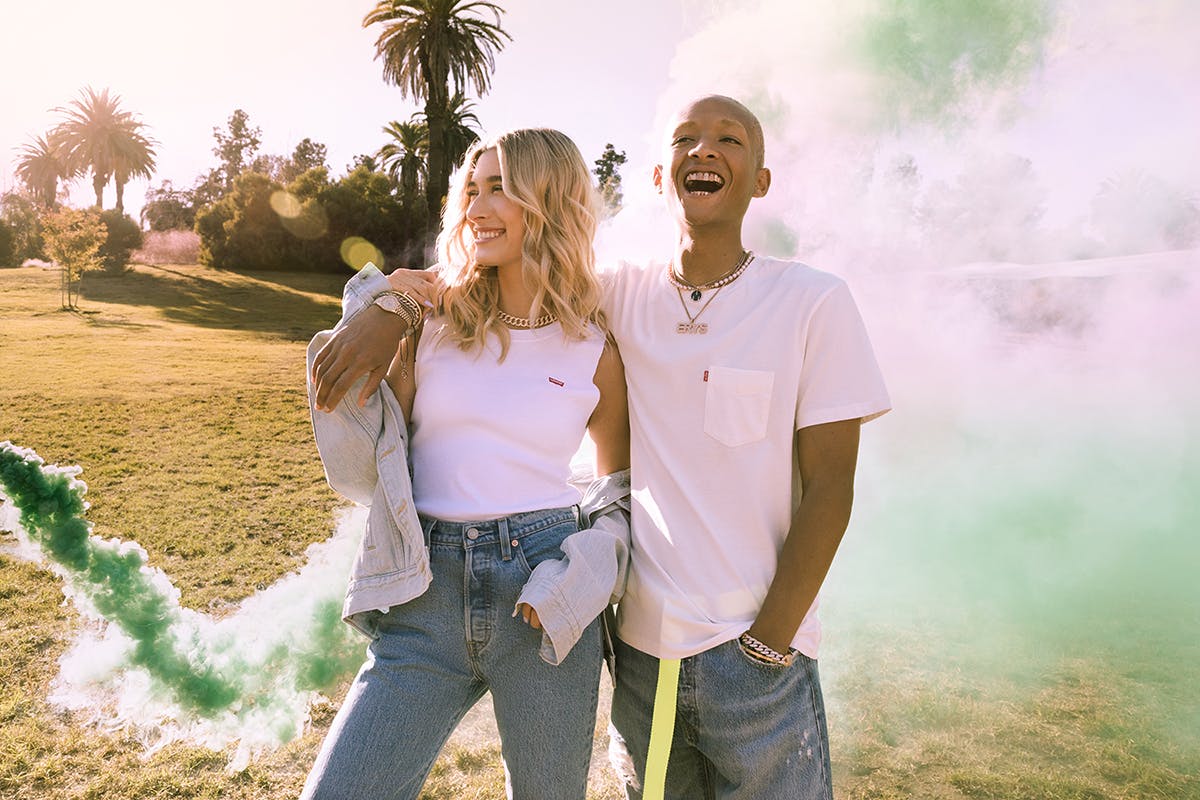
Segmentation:
<svg viewBox="0 0 1200 800">
<path fill-rule="evenodd" d="M 865 20 L 860 48 L 894 122 L 950 124 L 1028 78 L 1051 22 L 1046 0 L 889 0 Z"/>
</svg>

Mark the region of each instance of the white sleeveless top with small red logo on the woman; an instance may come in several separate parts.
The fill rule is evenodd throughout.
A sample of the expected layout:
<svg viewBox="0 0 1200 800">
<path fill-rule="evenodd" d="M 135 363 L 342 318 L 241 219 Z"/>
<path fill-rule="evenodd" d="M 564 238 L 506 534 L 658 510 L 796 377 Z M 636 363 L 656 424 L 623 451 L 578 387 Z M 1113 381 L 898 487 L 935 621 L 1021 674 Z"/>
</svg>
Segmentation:
<svg viewBox="0 0 1200 800">
<path fill-rule="evenodd" d="M 600 399 L 593 379 L 604 333 L 566 339 L 554 323 L 509 331 L 463 351 L 442 320 L 416 348 L 413 401 L 413 500 L 424 515 L 475 522 L 580 501 L 571 457 Z"/>
</svg>

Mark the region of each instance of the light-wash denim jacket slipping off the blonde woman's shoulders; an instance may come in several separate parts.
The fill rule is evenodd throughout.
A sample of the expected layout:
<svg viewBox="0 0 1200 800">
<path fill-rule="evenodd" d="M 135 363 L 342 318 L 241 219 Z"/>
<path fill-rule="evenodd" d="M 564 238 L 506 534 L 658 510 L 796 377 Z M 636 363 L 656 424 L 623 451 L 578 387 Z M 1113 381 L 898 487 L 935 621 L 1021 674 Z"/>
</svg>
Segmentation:
<svg viewBox="0 0 1200 800">
<path fill-rule="evenodd" d="M 389 289 L 386 277 L 367 265 L 342 294 L 342 319 L 334 330 Z M 413 505 L 408 426 L 386 381 L 364 408 L 361 378 L 332 411 L 316 409 L 312 362 L 334 331 L 308 343 L 308 410 L 325 477 L 335 492 L 370 506 L 346 590 L 342 619 L 373 636 L 372 612 L 386 612 L 422 594 L 432 581 L 425 534 Z M 592 483 L 580 503 L 581 530 L 562 545 L 562 559 L 539 564 L 521 593 L 542 624 L 540 655 L 560 663 L 583 630 L 624 591 L 629 561 L 629 470 Z"/>
</svg>

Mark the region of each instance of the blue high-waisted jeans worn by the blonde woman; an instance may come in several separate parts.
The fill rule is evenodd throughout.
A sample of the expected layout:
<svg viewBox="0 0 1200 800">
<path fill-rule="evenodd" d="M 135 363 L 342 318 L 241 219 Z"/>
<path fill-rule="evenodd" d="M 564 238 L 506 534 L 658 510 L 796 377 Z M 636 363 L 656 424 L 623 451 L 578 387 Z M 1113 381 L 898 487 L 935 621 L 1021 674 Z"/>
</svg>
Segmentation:
<svg viewBox="0 0 1200 800">
<path fill-rule="evenodd" d="M 512 608 L 533 567 L 562 555 L 575 510 L 452 523 L 421 518 L 433 583 L 377 613 L 368 657 L 308 775 L 305 800 L 416 798 L 472 705 L 492 692 L 509 796 L 582 800 L 595 728 L 601 632 L 557 667 Z"/>
</svg>

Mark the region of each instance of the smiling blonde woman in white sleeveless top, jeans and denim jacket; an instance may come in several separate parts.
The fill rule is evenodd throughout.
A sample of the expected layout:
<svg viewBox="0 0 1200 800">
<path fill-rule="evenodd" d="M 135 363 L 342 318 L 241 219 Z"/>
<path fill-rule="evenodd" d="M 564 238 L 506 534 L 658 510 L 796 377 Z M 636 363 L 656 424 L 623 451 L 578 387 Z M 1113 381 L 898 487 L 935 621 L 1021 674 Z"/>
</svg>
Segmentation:
<svg viewBox="0 0 1200 800">
<path fill-rule="evenodd" d="M 574 143 L 514 131 L 473 148 L 455 174 L 440 282 L 400 271 L 382 283 L 368 271 L 348 284 L 346 317 L 370 299 L 415 330 L 370 403 L 313 417 L 330 483 L 372 506 L 346 609 L 372 643 L 304 798 L 416 798 L 486 691 L 510 796 L 584 796 L 602 649 L 595 616 L 619 594 L 628 553 L 610 518 L 578 531 L 581 495 L 569 482 L 586 431 L 598 474 L 629 461 L 595 219 Z M 421 320 L 420 305 L 438 312 Z M 322 344 L 318 335 L 311 360 Z M 373 440 L 356 457 L 344 443 L 364 429 Z M 406 541 L 414 530 L 415 545 Z M 380 552 L 391 560 L 366 575 Z"/>
</svg>

